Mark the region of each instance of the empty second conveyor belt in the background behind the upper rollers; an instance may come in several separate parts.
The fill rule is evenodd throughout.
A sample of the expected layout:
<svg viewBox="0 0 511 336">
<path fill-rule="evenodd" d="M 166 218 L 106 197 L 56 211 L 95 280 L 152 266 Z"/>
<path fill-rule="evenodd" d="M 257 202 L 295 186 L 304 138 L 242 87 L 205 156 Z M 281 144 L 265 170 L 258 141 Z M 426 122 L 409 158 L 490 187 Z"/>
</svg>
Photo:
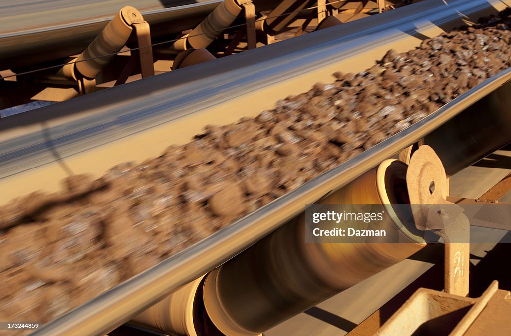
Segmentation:
<svg viewBox="0 0 511 336">
<path fill-rule="evenodd" d="M 220 0 L 7 1 L 0 4 L 0 70 L 81 53 L 124 6 L 139 10 L 153 38 L 197 25 Z M 254 2 L 258 10 L 272 2 Z"/>
</svg>

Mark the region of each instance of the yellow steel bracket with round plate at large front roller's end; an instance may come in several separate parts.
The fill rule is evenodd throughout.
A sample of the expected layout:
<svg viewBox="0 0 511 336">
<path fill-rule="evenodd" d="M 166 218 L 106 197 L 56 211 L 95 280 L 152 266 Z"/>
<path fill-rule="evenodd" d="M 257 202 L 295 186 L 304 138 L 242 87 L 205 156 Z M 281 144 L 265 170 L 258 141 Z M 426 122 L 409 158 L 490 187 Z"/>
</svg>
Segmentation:
<svg viewBox="0 0 511 336">
<path fill-rule="evenodd" d="M 470 223 L 463 209 L 446 200 L 447 177 L 442 161 L 429 146 L 420 146 L 411 158 L 406 184 L 417 229 L 433 233 L 445 243 L 445 291 L 469 292 Z"/>
</svg>

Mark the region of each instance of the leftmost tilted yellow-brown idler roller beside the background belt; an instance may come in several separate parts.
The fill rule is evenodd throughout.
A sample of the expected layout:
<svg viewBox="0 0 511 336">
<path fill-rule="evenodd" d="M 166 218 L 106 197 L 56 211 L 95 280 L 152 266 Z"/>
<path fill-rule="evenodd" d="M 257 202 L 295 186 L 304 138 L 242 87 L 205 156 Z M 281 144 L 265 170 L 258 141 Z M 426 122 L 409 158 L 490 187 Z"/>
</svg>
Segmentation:
<svg viewBox="0 0 511 336">
<path fill-rule="evenodd" d="M 131 35 L 133 23 L 144 22 L 142 14 L 133 7 L 121 9 L 106 25 L 101 34 L 78 56 L 76 69 L 87 78 L 95 78 L 100 71 L 121 51 Z M 98 57 L 98 58 L 97 58 Z"/>
</svg>

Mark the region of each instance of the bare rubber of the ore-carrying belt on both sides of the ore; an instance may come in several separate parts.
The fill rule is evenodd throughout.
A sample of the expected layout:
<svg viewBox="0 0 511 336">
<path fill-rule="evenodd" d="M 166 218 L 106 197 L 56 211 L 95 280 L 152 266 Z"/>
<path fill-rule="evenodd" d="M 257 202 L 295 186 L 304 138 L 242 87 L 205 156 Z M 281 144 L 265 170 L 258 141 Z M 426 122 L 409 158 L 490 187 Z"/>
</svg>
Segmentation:
<svg viewBox="0 0 511 336">
<path fill-rule="evenodd" d="M 317 81 L 329 80 L 336 70 L 350 66 L 357 71 L 370 66 L 390 45 L 398 52 L 411 49 L 421 41 L 414 37 L 417 33 L 433 36 L 441 31 L 438 27 L 459 26 L 466 17 L 476 21 L 505 6 L 501 1 L 465 0 L 445 5 L 430 0 L 214 64 L 204 63 L 5 118 L 0 123 L 0 188 L 7 190 L 7 195 L 1 195 L 0 202 L 37 188 L 55 191 L 60 177 L 67 174 L 61 163 L 74 174 L 101 174 L 121 159 L 156 156 L 170 143 L 187 141 L 205 124 L 223 124 L 255 115 L 271 108 L 279 98 L 305 91 Z M 510 75 L 509 70 L 504 71 L 408 129 L 64 315 L 36 334 L 87 334 L 83 327 L 90 326 L 90 319 L 95 321 L 95 333 L 100 333 L 128 320 L 176 287 L 253 244 L 303 211 L 305 204 L 352 181 L 496 88 L 507 93 L 509 86 L 503 84 Z M 257 104 L 246 104 L 247 100 Z M 242 102 L 244 109 L 239 108 Z M 30 185 L 32 190 L 20 188 L 22 185 Z"/>
</svg>

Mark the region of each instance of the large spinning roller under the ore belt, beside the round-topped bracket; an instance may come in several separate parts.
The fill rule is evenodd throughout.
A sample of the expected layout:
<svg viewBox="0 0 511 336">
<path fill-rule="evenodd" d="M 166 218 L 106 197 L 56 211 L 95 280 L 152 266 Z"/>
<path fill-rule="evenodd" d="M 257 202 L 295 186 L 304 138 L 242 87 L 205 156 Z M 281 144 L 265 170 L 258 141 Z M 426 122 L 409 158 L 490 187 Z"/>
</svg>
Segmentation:
<svg viewBox="0 0 511 336">
<path fill-rule="evenodd" d="M 389 159 L 321 204 L 407 204 L 407 165 Z M 402 207 L 399 207 L 402 209 Z M 203 297 L 208 316 L 229 336 L 255 335 L 394 265 L 425 246 L 399 213 L 389 216 L 379 242 L 306 244 L 305 214 L 210 272 Z M 329 237 L 326 237 L 329 238 Z M 395 239 L 398 240 L 395 240 Z"/>
</svg>

